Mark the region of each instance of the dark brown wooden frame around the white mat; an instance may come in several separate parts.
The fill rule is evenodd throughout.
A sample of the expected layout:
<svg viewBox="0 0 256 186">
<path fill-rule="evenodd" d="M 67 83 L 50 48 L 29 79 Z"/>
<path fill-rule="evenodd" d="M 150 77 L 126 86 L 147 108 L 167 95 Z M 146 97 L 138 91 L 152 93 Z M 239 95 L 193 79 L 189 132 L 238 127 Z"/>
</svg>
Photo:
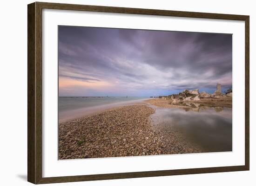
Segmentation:
<svg viewBox="0 0 256 186">
<path fill-rule="evenodd" d="M 245 165 L 205 167 L 177 170 L 108 173 L 63 177 L 42 177 L 42 9 L 77 10 L 104 13 L 129 13 L 187 18 L 228 19 L 245 21 Z M 34 184 L 109 180 L 195 173 L 216 173 L 249 170 L 249 16 L 217 13 L 196 13 L 168 10 L 124 8 L 110 6 L 73 5 L 34 2 L 27 6 L 27 180 Z"/>
</svg>

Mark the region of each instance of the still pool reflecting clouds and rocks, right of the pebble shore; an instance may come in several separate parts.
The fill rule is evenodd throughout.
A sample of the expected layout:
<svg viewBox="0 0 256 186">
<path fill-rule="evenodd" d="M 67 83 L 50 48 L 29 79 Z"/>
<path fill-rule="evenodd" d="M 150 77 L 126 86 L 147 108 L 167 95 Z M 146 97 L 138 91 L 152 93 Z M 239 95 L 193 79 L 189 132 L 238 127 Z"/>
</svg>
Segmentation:
<svg viewBox="0 0 256 186">
<path fill-rule="evenodd" d="M 185 109 L 157 108 L 151 117 L 162 132 L 168 135 L 166 131 L 176 130 L 202 147 L 203 152 L 232 151 L 232 109 L 203 105 Z"/>
</svg>

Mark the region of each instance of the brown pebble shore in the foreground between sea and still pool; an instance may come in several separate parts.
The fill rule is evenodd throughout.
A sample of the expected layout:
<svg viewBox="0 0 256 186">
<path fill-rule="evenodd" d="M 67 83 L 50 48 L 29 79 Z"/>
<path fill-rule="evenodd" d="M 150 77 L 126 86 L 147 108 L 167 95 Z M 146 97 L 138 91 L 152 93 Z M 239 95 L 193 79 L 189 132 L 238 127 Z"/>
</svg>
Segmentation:
<svg viewBox="0 0 256 186">
<path fill-rule="evenodd" d="M 60 123 L 59 159 L 201 152 L 175 132 L 165 137 L 164 128 L 150 120 L 154 112 L 146 105 L 131 105 Z"/>
</svg>

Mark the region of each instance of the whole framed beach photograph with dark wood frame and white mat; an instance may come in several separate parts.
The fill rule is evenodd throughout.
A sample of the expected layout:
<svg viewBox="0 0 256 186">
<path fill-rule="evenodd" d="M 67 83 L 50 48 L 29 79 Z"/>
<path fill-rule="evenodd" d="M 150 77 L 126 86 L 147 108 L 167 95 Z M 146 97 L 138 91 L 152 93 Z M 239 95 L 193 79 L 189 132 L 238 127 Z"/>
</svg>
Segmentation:
<svg viewBox="0 0 256 186">
<path fill-rule="evenodd" d="M 27 12 L 29 182 L 249 170 L 249 16 Z"/>
</svg>

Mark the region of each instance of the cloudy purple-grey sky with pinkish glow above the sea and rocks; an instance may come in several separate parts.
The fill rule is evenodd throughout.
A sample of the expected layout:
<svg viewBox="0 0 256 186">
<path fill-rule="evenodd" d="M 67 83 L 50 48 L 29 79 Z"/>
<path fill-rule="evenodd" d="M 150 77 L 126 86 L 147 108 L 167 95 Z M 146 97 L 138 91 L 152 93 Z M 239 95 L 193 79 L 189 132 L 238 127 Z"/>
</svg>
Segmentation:
<svg viewBox="0 0 256 186">
<path fill-rule="evenodd" d="M 232 34 L 59 26 L 60 96 L 232 88 Z"/>
</svg>

